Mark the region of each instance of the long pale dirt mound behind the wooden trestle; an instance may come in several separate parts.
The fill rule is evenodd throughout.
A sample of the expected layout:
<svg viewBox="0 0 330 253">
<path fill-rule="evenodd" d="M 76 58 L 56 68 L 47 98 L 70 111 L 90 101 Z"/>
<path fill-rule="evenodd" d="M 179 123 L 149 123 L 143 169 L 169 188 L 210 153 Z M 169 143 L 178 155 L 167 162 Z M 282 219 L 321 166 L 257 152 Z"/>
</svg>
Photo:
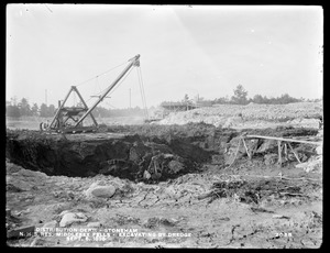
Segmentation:
<svg viewBox="0 0 330 253">
<path fill-rule="evenodd" d="M 318 128 L 318 119 L 322 116 L 322 103 L 297 102 L 288 105 L 218 105 L 209 108 L 199 108 L 185 112 L 173 112 L 160 124 L 186 124 L 188 122 L 205 122 L 216 127 L 238 128 L 241 124 L 288 122 L 294 127 L 304 125 Z M 293 121 L 299 119 L 299 121 Z M 308 122 L 306 119 L 310 119 Z M 289 122 L 290 121 L 290 122 Z M 264 127 L 265 128 L 265 127 Z"/>
</svg>

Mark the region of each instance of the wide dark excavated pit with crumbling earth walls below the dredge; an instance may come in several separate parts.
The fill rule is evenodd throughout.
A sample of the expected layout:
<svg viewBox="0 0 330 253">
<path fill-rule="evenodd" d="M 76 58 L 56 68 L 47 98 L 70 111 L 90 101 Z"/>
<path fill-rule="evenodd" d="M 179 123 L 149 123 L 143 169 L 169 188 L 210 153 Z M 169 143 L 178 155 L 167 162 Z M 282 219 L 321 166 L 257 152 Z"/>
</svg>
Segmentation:
<svg viewBox="0 0 330 253">
<path fill-rule="evenodd" d="M 246 131 L 273 136 L 310 136 L 318 132 L 293 128 Z M 228 151 L 235 148 L 240 134 L 205 123 L 112 127 L 106 133 L 72 135 L 8 130 L 6 156 L 24 168 L 50 176 L 103 174 L 152 183 L 197 172 L 205 163 L 224 166 L 233 153 Z M 262 155 L 276 151 L 272 141 L 258 141 L 257 145 L 256 153 Z M 314 150 L 309 152 L 305 156 Z"/>
</svg>

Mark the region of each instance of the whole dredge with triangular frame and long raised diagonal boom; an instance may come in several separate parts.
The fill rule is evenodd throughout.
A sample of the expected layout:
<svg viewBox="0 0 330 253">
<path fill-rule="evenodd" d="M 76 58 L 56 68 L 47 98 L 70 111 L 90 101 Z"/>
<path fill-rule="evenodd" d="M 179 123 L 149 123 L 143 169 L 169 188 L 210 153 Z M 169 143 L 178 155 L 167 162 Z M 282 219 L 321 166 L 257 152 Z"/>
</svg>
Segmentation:
<svg viewBox="0 0 330 253">
<path fill-rule="evenodd" d="M 90 107 L 87 107 L 84 98 L 76 86 L 72 86 L 69 92 L 66 95 L 64 101 L 58 101 L 58 109 L 50 124 L 41 123 L 41 130 L 55 131 L 58 133 L 77 133 L 77 132 L 92 132 L 99 129 L 99 125 L 92 116 L 92 110 L 107 97 L 107 95 L 114 88 L 114 86 L 128 74 L 132 67 L 140 66 L 140 55 L 129 59 L 129 65 L 122 70 L 117 79 L 99 96 L 98 100 Z M 80 99 L 80 107 L 65 107 L 68 97 L 76 92 Z M 84 127 L 84 121 L 89 117 L 92 125 Z"/>
</svg>

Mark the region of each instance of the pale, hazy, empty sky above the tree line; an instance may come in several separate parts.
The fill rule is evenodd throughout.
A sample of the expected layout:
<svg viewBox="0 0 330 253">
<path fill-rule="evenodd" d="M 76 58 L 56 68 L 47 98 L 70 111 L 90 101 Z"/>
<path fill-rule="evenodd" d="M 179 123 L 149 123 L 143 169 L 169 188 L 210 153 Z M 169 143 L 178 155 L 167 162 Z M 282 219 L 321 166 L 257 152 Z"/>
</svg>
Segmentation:
<svg viewBox="0 0 330 253">
<path fill-rule="evenodd" d="M 317 6 L 8 4 L 6 100 L 57 107 L 77 86 L 90 107 L 138 54 L 147 107 L 238 85 L 249 98 L 321 98 L 322 46 Z M 142 107 L 138 73 L 100 106 Z"/>
</svg>

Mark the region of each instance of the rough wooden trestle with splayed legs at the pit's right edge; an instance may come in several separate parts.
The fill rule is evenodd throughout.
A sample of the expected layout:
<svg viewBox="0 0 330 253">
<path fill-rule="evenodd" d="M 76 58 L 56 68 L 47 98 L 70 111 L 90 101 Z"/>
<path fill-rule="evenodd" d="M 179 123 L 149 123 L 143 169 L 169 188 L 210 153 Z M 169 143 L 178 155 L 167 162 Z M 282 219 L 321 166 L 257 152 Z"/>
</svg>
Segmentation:
<svg viewBox="0 0 330 253">
<path fill-rule="evenodd" d="M 248 146 L 246 146 L 246 143 L 245 143 L 245 139 L 265 139 L 265 140 L 274 140 L 274 141 L 277 141 L 277 146 L 278 146 L 278 165 L 282 167 L 282 164 L 283 164 L 283 160 L 282 160 L 282 153 L 283 153 L 283 150 L 284 150 L 284 154 L 285 156 L 288 155 L 288 148 L 290 148 L 290 151 L 293 152 L 293 154 L 295 155 L 296 160 L 298 161 L 298 163 L 301 163 L 301 161 L 299 160 L 299 156 L 298 154 L 295 152 L 295 150 L 293 148 L 292 146 L 292 142 L 296 142 L 296 143 L 305 143 L 305 144 L 310 144 L 310 145 L 320 145 L 322 144 L 321 142 L 310 142 L 310 141 L 304 141 L 304 140 L 295 140 L 295 139 L 285 139 L 285 138 L 274 138 L 274 136 L 263 136 L 263 135 L 248 135 L 248 134 L 243 134 L 240 136 L 239 139 L 239 144 L 238 144 L 238 150 L 235 152 L 235 155 L 234 155 L 234 158 L 232 161 L 232 163 L 227 167 L 231 167 L 231 165 L 233 165 L 233 163 L 235 162 L 235 158 L 237 158 L 237 155 L 239 153 L 239 150 L 240 150 L 240 145 L 241 145 L 241 142 L 243 143 L 244 145 L 244 148 L 245 148 L 245 152 L 246 152 L 246 155 L 249 156 L 249 160 L 252 158 L 252 155 L 253 155 L 253 152 L 250 152 Z"/>
</svg>

